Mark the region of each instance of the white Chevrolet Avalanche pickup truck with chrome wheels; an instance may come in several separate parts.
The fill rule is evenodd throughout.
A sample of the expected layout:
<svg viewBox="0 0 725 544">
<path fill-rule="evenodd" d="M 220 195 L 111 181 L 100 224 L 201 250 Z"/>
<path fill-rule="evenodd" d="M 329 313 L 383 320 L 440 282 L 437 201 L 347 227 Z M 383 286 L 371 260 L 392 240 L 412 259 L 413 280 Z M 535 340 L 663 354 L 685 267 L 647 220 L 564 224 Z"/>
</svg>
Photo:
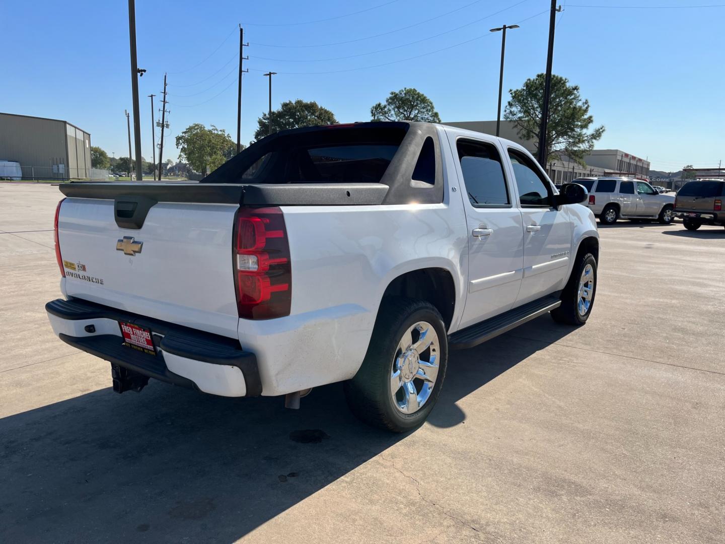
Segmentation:
<svg viewBox="0 0 725 544">
<path fill-rule="evenodd" d="M 345 382 L 402 432 L 449 349 L 592 311 L 599 237 L 576 184 L 523 147 L 428 123 L 282 131 L 197 184 L 73 183 L 55 218 L 55 334 L 149 378 L 228 397 Z"/>
</svg>

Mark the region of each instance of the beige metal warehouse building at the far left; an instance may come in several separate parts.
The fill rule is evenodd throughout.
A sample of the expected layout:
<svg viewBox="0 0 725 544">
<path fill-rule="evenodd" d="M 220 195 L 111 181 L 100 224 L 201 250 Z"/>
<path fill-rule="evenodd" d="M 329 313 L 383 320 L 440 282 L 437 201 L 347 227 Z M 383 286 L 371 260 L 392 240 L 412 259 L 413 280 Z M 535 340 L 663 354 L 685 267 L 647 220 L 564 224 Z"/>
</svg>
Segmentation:
<svg viewBox="0 0 725 544">
<path fill-rule="evenodd" d="M 23 179 L 88 179 L 91 135 L 67 121 L 0 113 L 0 160 L 20 162 Z"/>
</svg>

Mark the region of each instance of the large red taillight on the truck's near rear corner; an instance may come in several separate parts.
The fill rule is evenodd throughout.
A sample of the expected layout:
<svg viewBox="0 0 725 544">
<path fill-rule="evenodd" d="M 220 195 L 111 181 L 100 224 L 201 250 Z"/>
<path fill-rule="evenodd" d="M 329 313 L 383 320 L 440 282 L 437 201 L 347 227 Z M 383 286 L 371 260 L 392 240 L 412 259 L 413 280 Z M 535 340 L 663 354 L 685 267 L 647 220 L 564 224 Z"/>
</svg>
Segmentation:
<svg viewBox="0 0 725 544">
<path fill-rule="evenodd" d="M 234 284 L 239 317 L 289 316 L 292 271 L 278 207 L 242 208 L 234 219 Z"/>
</svg>

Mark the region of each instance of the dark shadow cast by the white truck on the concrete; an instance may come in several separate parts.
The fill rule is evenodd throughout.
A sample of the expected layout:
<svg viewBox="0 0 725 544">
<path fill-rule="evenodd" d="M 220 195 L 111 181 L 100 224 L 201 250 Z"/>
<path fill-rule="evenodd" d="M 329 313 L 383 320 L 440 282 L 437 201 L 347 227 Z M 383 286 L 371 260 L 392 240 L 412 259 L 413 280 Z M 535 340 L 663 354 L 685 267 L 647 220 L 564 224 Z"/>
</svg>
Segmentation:
<svg viewBox="0 0 725 544">
<path fill-rule="evenodd" d="M 452 352 L 426 425 L 460 424 L 458 400 L 571 330 L 543 316 L 514 331 L 543 342 Z M 357 421 L 340 384 L 299 411 L 153 381 L 97 390 L 0 419 L 0 541 L 233 542 L 407 436 Z"/>
</svg>

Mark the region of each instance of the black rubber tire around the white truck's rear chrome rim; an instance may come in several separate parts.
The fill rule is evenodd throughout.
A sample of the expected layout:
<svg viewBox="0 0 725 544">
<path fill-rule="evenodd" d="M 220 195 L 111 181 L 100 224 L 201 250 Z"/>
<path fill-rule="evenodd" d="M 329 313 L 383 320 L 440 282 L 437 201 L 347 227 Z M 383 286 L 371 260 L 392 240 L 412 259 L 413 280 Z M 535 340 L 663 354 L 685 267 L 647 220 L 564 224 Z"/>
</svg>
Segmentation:
<svg viewBox="0 0 725 544">
<path fill-rule="evenodd" d="M 438 337 L 438 374 L 428 400 L 415 413 L 403 413 L 392 395 L 391 375 L 403 334 L 418 321 L 430 323 Z M 415 342 L 415 338 L 413 338 Z M 425 353 L 425 352 L 423 352 Z M 344 384 L 350 411 L 372 426 L 393 432 L 417 428 L 431 413 L 446 375 L 448 337 L 443 318 L 428 302 L 404 298 L 384 299 L 370 338 L 368 353 L 355 377 Z"/>
</svg>

